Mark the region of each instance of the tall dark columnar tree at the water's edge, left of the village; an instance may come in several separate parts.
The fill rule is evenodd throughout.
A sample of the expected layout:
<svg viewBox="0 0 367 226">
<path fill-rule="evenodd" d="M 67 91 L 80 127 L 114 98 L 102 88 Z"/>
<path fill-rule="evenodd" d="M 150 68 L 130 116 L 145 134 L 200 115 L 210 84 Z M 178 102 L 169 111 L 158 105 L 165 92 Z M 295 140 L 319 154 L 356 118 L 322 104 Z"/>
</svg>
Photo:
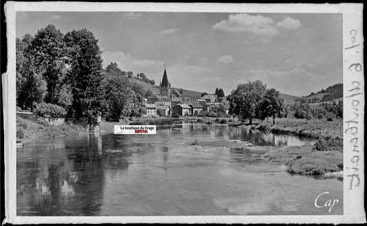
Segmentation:
<svg viewBox="0 0 367 226">
<path fill-rule="evenodd" d="M 101 50 L 94 34 L 83 28 L 65 34 L 68 73 L 72 87 L 73 109 L 76 117 L 87 117 L 90 125 L 104 109 L 104 92 Z"/>
</svg>

